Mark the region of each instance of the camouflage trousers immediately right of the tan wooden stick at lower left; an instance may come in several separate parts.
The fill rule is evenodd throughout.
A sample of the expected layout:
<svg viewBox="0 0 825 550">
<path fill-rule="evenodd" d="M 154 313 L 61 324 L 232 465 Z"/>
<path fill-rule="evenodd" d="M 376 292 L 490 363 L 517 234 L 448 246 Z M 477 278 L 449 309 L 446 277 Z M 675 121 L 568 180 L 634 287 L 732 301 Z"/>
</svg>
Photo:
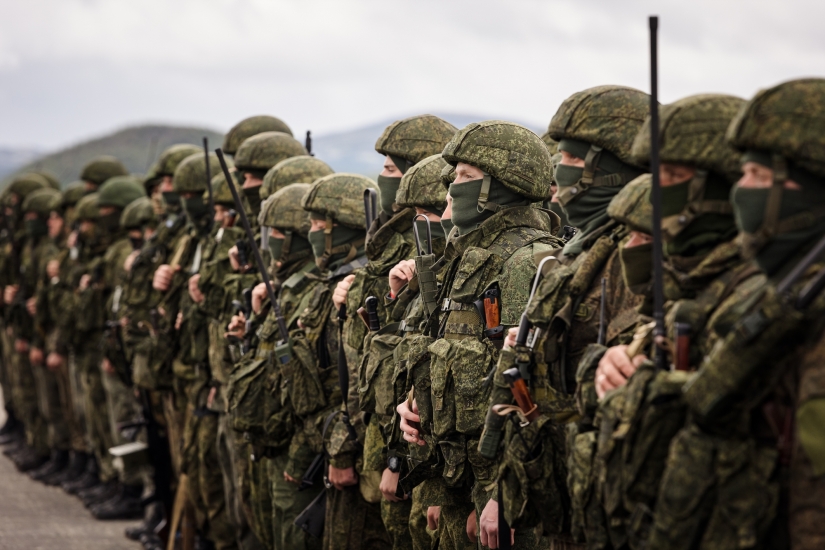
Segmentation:
<svg viewBox="0 0 825 550">
<path fill-rule="evenodd" d="M 189 498 L 198 526 L 216 549 L 238 548 L 218 462 L 218 415 L 202 412 L 190 403 L 186 416 L 182 470 L 189 478 Z"/>
</svg>

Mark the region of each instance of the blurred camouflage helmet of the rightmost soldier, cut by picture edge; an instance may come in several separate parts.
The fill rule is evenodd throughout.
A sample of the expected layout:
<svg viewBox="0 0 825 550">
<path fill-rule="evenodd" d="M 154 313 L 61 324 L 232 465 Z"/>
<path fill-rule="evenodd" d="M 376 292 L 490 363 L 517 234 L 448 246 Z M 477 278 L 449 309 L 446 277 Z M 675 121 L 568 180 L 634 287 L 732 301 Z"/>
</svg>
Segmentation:
<svg viewBox="0 0 825 550">
<path fill-rule="evenodd" d="M 825 79 L 791 80 L 760 91 L 733 119 L 727 139 L 739 150 L 779 155 L 825 177 Z"/>
</svg>

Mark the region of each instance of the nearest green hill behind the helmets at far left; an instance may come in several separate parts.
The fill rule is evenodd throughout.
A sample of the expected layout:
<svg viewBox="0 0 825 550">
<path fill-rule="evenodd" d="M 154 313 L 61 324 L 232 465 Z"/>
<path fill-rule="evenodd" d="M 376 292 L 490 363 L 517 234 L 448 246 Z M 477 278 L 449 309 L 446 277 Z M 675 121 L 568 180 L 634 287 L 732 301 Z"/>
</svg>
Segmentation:
<svg viewBox="0 0 825 550">
<path fill-rule="evenodd" d="M 143 174 L 161 151 L 170 145 L 175 143 L 202 145 L 204 136 L 209 138 L 210 149 L 219 147 L 223 142 L 223 134 L 204 128 L 164 125 L 132 126 L 37 158 L 3 178 L 2 186 L 5 187 L 5 184 L 16 174 L 34 168 L 54 172 L 65 185 L 77 180 L 83 165 L 99 155 L 113 155 L 119 158 L 130 172 Z"/>
</svg>

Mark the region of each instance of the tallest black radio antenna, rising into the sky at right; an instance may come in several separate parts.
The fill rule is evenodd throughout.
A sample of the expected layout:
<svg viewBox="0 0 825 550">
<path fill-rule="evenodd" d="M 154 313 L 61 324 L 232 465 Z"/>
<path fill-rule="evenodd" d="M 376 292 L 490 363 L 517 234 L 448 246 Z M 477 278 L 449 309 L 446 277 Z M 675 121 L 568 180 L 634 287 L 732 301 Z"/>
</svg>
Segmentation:
<svg viewBox="0 0 825 550">
<path fill-rule="evenodd" d="M 654 363 L 660 369 L 668 368 L 665 349 L 659 345 L 665 338 L 665 294 L 662 274 L 662 184 L 659 179 L 659 74 L 657 33 L 659 18 L 648 19 L 650 25 L 650 202 L 653 205 L 653 320 L 656 323 L 653 338 L 655 346 Z"/>
</svg>

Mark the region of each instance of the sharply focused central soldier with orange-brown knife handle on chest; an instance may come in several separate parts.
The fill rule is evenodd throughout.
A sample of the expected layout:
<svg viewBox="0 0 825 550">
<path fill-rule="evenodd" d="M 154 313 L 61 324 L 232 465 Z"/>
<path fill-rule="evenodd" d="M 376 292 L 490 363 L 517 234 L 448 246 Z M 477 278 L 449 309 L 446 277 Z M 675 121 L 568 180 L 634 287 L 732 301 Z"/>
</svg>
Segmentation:
<svg viewBox="0 0 825 550">
<path fill-rule="evenodd" d="M 398 410 L 405 438 L 418 445 L 437 444 L 443 457 L 440 483 L 430 484 L 424 497 L 427 504 L 441 506 L 441 547 L 475 543 L 476 517 L 484 511 L 479 538 L 495 548 L 495 525 L 485 518 L 491 510 L 496 515 L 488 488 L 497 464 L 478 451 L 492 389 L 485 380 L 494 372 L 505 329 L 518 323 L 526 305 L 535 275 L 534 254 L 561 245 L 552 236 L 558 219 L 531 206 L 549 195 L 552 166 L 538 136 L 500 121 L 465 127 L 447 144 L 443 156 L 455 166 L 450 196 L 458 237 L 444 254 L 450 263 L 438 295 L 441 315 L 431 317 L 424 331 L 436 337 L 423 354 L 410 353 L 413 369 L 429 358 L 430 391 L 421 387 L 425 379 L 416 375 L 419 414 L 405 405 Z M 505 158 L 519 161 L 516 165 Z M 411 420 L 421 423 L 420 430 L 410 426 Z M 432 467 L 425 462 L 417 468 L 428 466 Z M 529 530 L 516 531 L 515 536 L 518 544 L 534 544 Z"/>
</svg>

